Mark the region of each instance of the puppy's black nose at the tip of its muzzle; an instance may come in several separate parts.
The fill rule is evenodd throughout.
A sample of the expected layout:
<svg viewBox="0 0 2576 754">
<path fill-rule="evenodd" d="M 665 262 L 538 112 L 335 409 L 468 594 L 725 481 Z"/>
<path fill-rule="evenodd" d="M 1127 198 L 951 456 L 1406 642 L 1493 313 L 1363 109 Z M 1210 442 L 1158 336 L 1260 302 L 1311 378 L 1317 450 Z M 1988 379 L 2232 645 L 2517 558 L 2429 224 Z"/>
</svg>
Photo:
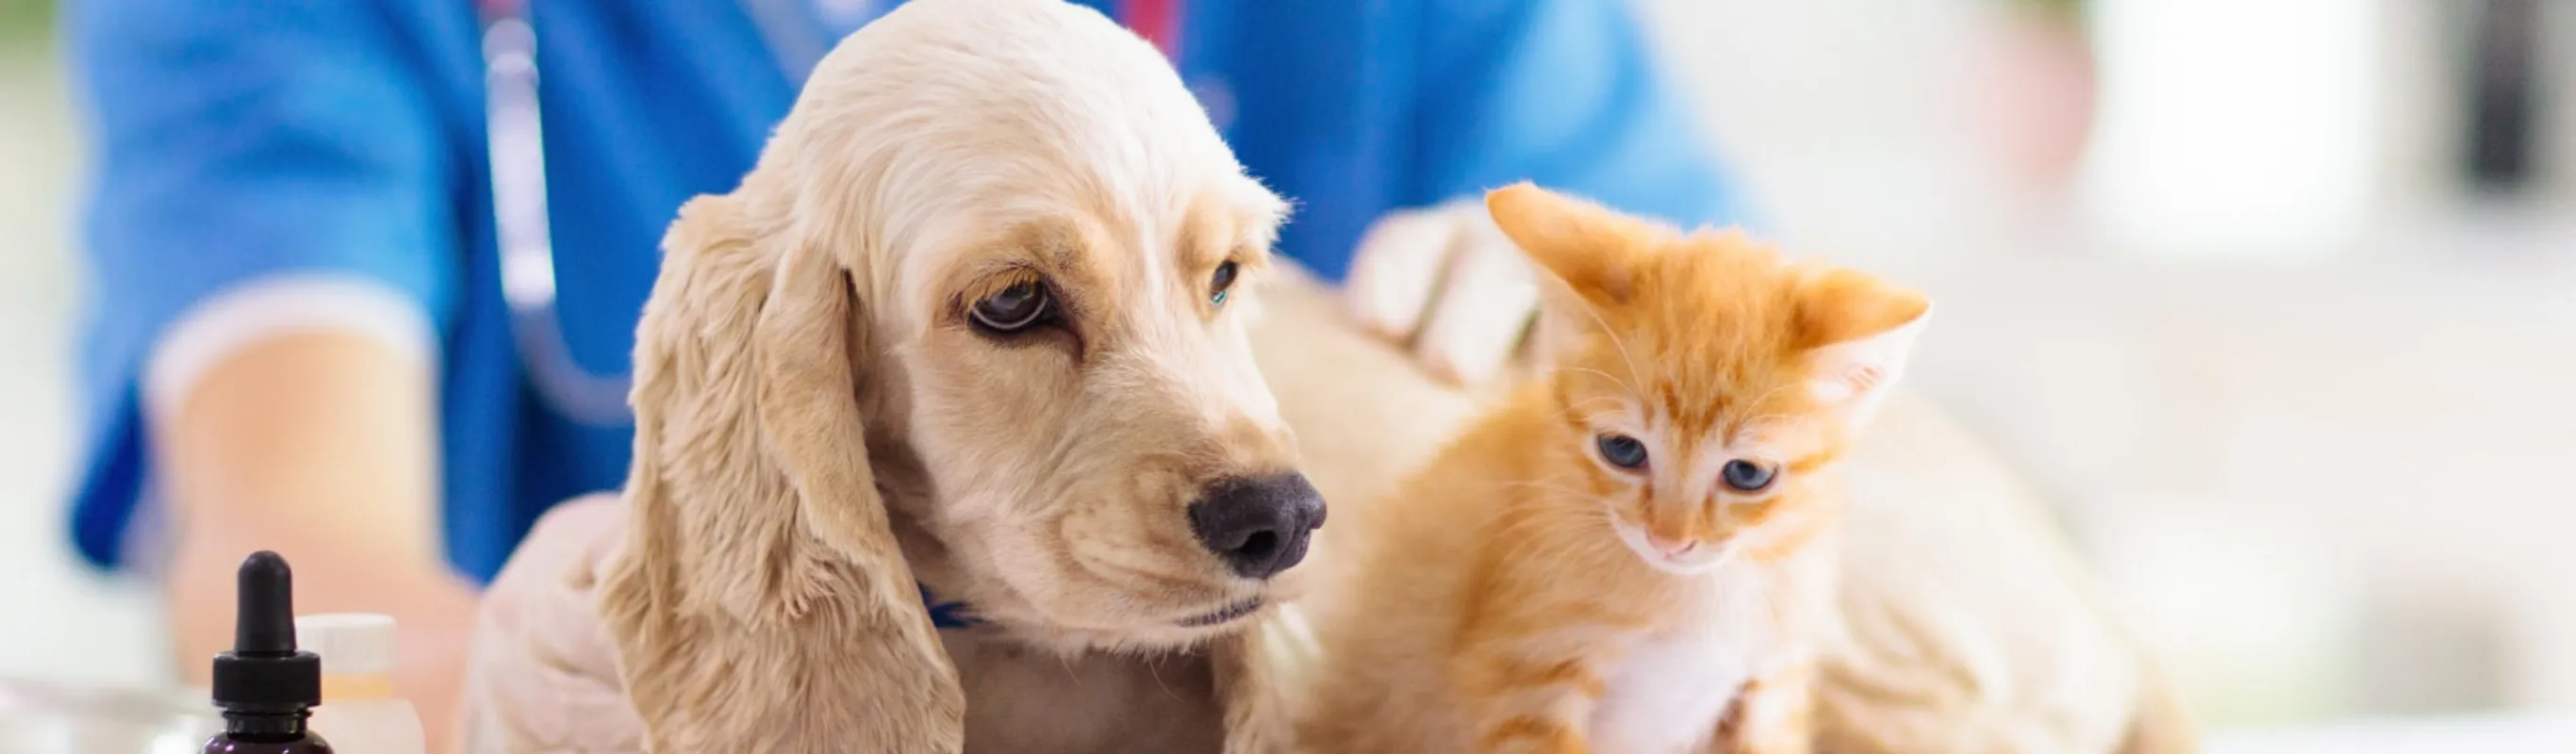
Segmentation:
<svg viewBox="0 0 2576 754">
<path fill-rule="evenodd" d="M 1270 579 L 1306 558 L 1306 533 L 1324 525 L 1324 497 L 1306 474 L 1221 479 L 1190 504 L 1190 530 L 1244 579 Z"/>
</svg>

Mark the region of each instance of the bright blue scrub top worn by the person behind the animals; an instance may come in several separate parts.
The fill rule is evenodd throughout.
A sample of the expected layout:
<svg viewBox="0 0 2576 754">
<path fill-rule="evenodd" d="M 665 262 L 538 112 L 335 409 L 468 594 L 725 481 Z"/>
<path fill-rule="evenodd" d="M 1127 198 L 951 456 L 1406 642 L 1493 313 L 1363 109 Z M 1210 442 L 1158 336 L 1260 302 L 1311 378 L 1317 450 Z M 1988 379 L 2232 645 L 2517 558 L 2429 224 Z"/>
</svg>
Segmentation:
<svg viewBox="0 0 2576 754">
<path fill-rule="evenodd" d="M 799 82 L 770 39 L 819 49 L 866 21 L 778 0 L 791 15 L 760 26 L 755 3 L 531 3 L 562 324 L 590 371 L 629 371 L 680 201 L 732 190 L 786 116 Z M 1185 80 L 1298 201 L 1280 252 L 1327 278 L 1378 214 L 1512 180 L 1739 221 L 1620 0 L 1172 5 Z M 554 414 L 510 345 L 469 0 L 85 0 L 67 39 L 95 139 L 82 556 L 118 566 L 149 507 L 137 378 L 155 337 L 278 273 L 361 275 L 430 314 L 459 571 L 489 579 L 549 504 L 623 484 L 631 427 Z"/>
</svg>

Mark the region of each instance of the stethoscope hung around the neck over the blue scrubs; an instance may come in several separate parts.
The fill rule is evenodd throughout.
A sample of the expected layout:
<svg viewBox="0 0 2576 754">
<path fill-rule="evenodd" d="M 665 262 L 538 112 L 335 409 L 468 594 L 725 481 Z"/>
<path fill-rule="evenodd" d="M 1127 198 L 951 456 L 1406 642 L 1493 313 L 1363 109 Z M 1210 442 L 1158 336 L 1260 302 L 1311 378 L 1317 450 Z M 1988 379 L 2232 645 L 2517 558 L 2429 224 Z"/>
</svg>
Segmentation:
<svg viewBox="0 0 2576 754">
<path fill-rule="evenodd" d="M 829 39 L 796 33 L 799 10 L 788 3 L 742 0 L 770 54 L 791 82 L 829 51 Z M 884 0 L 876 0 L 884 3 Z M 556 309 L 554 229 L 546 211 L 546 129 L 536 100 L 536 26 L 528 0 L 477 0 L 484 54 L 484 147 L 492 172 L 492 242 L 500 250 L 500 293 L 510 306 L 510 340 L 538 399 L 559 414 L 618 427 L 634 419 L 626 407 L 631 376 L 595 373 L 572 358 Z M 868 0 L 842 0 L 845 13 L 866 15 Z M 853 8 L 855 5 L 855 8 Z M 1175 49 L 1182 0 L 1123 3 L 1136 31 Z"/>
</svg>

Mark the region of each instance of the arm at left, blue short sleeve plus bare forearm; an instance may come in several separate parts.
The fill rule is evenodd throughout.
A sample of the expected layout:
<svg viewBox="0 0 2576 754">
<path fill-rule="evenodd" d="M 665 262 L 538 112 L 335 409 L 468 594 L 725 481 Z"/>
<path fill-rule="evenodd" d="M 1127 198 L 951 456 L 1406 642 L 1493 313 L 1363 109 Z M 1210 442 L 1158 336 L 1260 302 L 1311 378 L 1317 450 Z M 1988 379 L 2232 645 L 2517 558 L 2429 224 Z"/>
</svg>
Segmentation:
<svg viewBox="0 0 2576 754">
<path fill-rule="evenodd" d="M 124 540 L 131 512 L 157 502 L 178 667 L 196 682 L 229 643 L 224 574 L 252 548 L 283 551 L 301 612 L 402 620 L 399 692 L 443 733 L 456 661 L 435 656 L 461 654 L 471 589 L 430 525 L 456 237 L 453 149 L 435 87 L 404 59 L 417 39 L 379 3 L 67 10 L 95 136 L 82 551 L 155 556 Z M 294 304 L 281 288 L 366 293 Z M 353 299 L 389 301 L 379 309 L 412 324 L 350 314 Z M 191 327 L 216 319 L 234 327 Z"/>
</svg>

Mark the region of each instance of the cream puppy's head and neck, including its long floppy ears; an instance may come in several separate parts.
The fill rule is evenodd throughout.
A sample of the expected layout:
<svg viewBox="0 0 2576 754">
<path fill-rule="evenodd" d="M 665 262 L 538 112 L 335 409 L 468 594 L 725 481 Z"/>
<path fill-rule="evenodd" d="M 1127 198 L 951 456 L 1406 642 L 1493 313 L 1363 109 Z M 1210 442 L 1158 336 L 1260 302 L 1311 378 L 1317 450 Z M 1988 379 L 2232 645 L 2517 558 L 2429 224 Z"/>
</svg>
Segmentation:
<svg viewBox="0 0 2576 754">
<path fill-rule="evenodd" d="M 647 749 L 1285 746 L 1262 623 L 1324 502 L 1242 311 L 1283 214 L 1092 10 L 845 39 L 639 327 L 598 594 Z"/>
</svg>

